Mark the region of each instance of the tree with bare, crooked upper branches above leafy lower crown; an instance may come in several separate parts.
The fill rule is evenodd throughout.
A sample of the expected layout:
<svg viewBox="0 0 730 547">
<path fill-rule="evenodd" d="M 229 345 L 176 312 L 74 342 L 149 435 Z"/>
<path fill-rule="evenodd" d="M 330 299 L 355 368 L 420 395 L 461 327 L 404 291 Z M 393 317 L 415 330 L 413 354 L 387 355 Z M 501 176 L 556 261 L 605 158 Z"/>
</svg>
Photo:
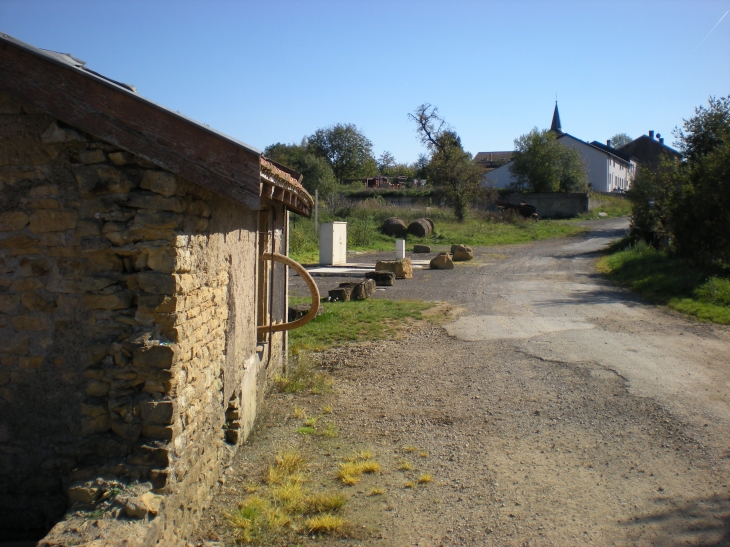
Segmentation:
<svg viewBox="0 0 730 547">
<path fill-rule="evenodd" d="M 484 170 L 464 151 L 461 139 L 439 115 L 438 108 L 422 104 L 408 117 L 416 123 L 418 138 L 431 153 L 428 177 L 446 190 L 456 218 L 463 221 L 480 193 Z"/>
</svg>

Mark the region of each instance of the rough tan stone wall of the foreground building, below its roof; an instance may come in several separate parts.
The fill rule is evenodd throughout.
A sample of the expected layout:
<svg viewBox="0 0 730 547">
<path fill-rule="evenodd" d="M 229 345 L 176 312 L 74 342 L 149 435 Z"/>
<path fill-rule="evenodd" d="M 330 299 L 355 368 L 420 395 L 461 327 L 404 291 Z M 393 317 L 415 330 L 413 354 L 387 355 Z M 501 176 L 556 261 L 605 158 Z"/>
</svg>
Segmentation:
<svg viewBox="0 0 730 547">
<path fill-rule="evenodd" d="M 282 363 L 281 334 L 257 351 L 259 213 L 2 95 L 0 139 L 0 534 L 71 503 L 175 545 Z"/>
</svg>

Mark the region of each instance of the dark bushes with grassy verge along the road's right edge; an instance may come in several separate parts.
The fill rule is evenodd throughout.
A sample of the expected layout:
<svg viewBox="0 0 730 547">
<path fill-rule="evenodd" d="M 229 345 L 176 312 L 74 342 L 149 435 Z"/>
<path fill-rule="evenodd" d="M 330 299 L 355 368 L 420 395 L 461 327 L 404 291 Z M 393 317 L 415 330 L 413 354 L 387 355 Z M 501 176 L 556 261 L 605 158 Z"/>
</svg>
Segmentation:
<svg viewBox="0 0 730 547">
<path fill-rule="evenodd" d="M 598 266 L 653 302 L 730 324 L 730 97 L 674 134 L 681 159 L 639 170 L 629 237 Z"/>
</svg>

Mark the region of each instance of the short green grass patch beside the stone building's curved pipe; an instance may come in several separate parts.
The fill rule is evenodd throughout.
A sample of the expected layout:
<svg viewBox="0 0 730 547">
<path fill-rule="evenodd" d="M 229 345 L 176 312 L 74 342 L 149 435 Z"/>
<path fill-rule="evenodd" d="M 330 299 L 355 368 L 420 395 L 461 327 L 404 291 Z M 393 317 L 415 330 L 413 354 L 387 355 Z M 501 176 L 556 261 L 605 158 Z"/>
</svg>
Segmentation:
<svg viewBox="0 0 730 547">
<path fill-rule="evenodd" d="M 298 304 L 310 300 L 291 298 L 290 301 Z M 290 351 L 292 355 L 301 355 L 308 351 L 323 351 L 343 343 L 392 339 L 408 321 L 421 319 L 421 311 L 431 306 L 428 302 L 407 300 L 327 302 L 323 299 L 323 312 L 320 315 L 302 328 L 289 331 Z M 295 382 L 294 376 L 292 382 Z M 295 382 L 292 387 L 284 389 L 295 389 L 294 386 L 298 388 L 300 384 Z M 305 387 L 298 390 L 302 389 Z"/>
</svg>

